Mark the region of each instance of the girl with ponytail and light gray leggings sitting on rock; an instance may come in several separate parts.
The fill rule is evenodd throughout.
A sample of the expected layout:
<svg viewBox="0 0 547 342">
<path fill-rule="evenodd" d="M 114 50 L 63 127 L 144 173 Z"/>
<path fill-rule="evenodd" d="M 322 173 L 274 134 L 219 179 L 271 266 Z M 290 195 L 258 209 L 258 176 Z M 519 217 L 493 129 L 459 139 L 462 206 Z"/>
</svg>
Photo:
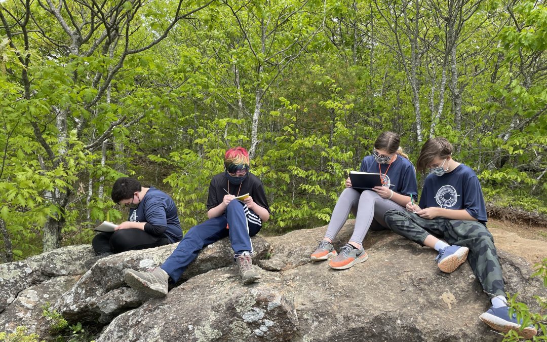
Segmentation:
<svg viewBox="0 0 547 342">
<path fill-rule="evenodd" d="M 393 132 L 382 132 L 374 143 L 371 155 L 365 156 L 359 171 L 380 173 L 381 187 L 358 190 L 346 179 L 346 189 L 340 195 L 330 217 L 327 233 L 310 256 L 312 261 L 327 260 L 333 269 L 347 269 L 368 259 L 363 249 L 363 240 L 369 228 L 387 228 L 383 221 L 386 211 L 404 210 L 407 202 L 417 199 L 416 171 L 408 156 L 399 147 L 399 136 Z M 334 250 L 333 240 L 347 220 L 350 210 L 356 215 L 355 228 L 350 241 Z"/>
</svg>

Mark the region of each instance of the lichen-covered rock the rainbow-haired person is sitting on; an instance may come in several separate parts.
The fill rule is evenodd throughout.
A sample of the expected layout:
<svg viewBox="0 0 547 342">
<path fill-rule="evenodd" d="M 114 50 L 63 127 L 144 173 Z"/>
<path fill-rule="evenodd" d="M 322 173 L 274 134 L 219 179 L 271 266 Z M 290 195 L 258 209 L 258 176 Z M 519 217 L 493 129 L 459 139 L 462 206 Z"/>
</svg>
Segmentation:
<svg viewBox="0 0 547 342">
<path fill-rule="evenodd" d="M 270 246 L 260 236 L 252 238 L 254 259 L 263 258 Z M 68 321 L 108 323 L 129 309 L 148 300 L 143 294 L 126 287 L 126 269 L 146 270 L 161 265 L 178 244 L 128 251 L 99 259 L 80 280 L 57 300 L 53 308 Z M 212 269 L 234 265 L 234 251 L 229 239 L 208 245 L 198 254 L 178 284 Z"/>
</svg>

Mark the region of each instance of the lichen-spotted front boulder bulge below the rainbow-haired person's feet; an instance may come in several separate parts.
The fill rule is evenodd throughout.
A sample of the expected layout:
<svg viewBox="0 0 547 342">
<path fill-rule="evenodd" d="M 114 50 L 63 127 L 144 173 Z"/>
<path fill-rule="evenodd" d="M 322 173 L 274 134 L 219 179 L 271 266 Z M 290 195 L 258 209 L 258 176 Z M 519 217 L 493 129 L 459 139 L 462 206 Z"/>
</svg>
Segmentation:
<svg viewBox="0 0 547 342">
<path fill-rule="evenodd" d="M 241 284 L 236 266 L 207 272 L 125 312 L 104 329 L 107 341 L 288 341 L 298 318 L 280 278 Z"/>
</svg>

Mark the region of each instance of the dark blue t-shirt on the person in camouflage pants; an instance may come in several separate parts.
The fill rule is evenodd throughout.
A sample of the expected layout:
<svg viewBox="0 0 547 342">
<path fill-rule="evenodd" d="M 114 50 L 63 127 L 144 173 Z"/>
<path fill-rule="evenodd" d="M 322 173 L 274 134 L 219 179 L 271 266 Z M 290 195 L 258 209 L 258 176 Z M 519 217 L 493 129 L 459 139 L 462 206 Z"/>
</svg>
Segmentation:
<svg viewBox="0 0 547 342">
<path fill-rule="evenodd" d="M 428 175 L 426 177 L 420 198 L 420 208 L 428 207 L 465 209 L 479 222 L 488 221 L 479 178 L 475 171 L 463 164 L 443 176 Z"/>
</svg>

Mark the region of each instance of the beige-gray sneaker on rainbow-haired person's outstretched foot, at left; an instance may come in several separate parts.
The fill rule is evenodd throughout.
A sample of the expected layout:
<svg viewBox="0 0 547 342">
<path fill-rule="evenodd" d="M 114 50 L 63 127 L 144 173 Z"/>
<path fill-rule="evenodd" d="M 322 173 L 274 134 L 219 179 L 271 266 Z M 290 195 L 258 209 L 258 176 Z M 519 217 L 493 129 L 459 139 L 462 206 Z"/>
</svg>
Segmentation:
<svg viewBox="0 0 547 342">
<path fill-rule="evenodd" d="M 127 269 L 125 270 L 124 279 L 131 288 L 152 297 L 165 297 L 167 295 L 169 275 L 159 267 L 147 272 Z"/>
</svg>

